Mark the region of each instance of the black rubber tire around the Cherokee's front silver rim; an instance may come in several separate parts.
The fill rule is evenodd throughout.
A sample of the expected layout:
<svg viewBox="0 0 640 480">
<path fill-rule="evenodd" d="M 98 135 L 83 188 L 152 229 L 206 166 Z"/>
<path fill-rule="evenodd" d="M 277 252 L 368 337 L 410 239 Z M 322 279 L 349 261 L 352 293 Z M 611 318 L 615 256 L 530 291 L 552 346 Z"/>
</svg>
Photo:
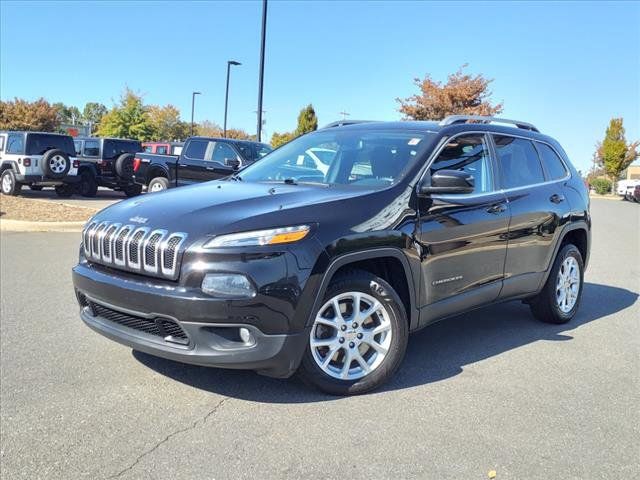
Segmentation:
<svg viewBox="0 0 640 480">
<path fill-rule="evenodd" d="M 352 270 L 345 274 L 340 274 L 337 278 L 331 280 L 322 302 L 323 306 L 336 295 L 346 292 L 365 293 L 380 302 L 380 304 L 385 308 L 390 321 L 391 340 L 385 357 L 376 368 L 361 378 L 343 380 L 335 378 L 322 370 L 314 358 L 309 338 L 307 340 L 307 348 L 305 349 L 302 363 L 298 369 L 298 375 L 305 383 L 333 395 L 356 395 L 366 393 L 378 388 L 389 380 L 402 363 L 407 349 L 407 340 L 409 336 L 409 325 L 402 301 L 391 285 L 383 279 L 362 270 Z M 321 306 L 320 309 L 322 308 L 323 307 Z M 318 311 L 313 312 L 314 319 L 318 313 Z M 351 322 L 351 320 L 349 320 L 349 322 Z M 314 325 L 312 327 L 312 332 L 315 328 L 318 327 Z M 336 330 L 336 332 L 338 332 L 338 330 Z M 349 331 L 347 331 L 345 335 L 348 333 Z M 340 336 L 340 332 L 338 332 L 337 335 Z M 345 351 L 350 346 L 352 347 L 351 343 L 348 345 L 343 343 L 342 345 L 344 346 L 341 348 Z M 344 352 L 341 353 L 341 351 L 338 351 L 336 353 L 337 357 L 335 358 L 339 359 L 340 355 L 344 354 Z M 327 353 L 327 355 L 329 354 Z M 353 362 L 356 362 L 357 368 L 358 362 L 356 360 Z M 350 366 L 353 365 L 353 362 L 350 363 Z"/>
</svg>

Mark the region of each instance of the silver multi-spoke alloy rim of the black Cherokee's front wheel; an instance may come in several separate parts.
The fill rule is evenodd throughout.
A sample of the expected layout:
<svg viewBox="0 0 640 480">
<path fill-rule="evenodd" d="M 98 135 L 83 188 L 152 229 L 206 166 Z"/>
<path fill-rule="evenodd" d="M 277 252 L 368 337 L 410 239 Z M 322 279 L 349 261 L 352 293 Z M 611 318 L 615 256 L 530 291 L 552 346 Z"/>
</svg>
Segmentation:
<svg viewBox="0 0 640 480">
<path fill-rule="evenodd" d="M 391 338 L 389 312 L 363 292 L 331 298 L 320 308 L 309 334 L 316 364 L 341 380 L 357 380 L 378 368 Z"/>
</svg>

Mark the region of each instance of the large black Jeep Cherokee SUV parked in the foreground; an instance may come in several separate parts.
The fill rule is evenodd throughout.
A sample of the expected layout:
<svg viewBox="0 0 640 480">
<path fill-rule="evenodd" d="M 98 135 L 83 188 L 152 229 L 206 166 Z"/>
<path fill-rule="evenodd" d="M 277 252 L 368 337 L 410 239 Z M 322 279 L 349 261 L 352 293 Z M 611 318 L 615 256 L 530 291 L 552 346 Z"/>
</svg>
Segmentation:
<svg viewBox="0 0 640 480">
<path fill-rule="evenodd" d="M 587 190 L 558 142 L 497 122 L 325 128 L 227 180 L 115 204 L 83 231 L 81 317 L 152 355 L 334 394 L 379 386 L 409 332 L 482 305 L 567 322 Z"/>
</svg>

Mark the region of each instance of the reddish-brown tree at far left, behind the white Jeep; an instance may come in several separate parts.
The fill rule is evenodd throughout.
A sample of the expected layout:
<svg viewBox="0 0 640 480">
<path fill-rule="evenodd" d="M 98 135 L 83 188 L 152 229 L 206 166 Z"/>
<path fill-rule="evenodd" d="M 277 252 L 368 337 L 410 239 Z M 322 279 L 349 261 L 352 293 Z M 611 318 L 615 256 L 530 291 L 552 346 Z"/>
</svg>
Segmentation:
<svg viewBox="0 0 640 480">
<path fill-rule="evenodd" d="M 59 125 L 58 111 L 44 98 L 35 102 L 19 98 L 0 101 L 0 130 L 54 132 Z"/>
</svg>

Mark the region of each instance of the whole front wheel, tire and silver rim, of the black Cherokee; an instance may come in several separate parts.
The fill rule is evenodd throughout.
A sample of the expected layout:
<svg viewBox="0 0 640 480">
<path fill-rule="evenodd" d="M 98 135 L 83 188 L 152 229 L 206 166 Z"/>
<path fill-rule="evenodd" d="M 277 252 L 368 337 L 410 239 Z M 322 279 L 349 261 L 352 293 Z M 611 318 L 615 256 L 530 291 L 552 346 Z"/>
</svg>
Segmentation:
<svg viewBox="0 0 640 480">
<path fill-rule="evenodd" d="M 408 336 L 407 315 L 391 285 L 365 271 L 342 274 L 315 313 L 299 374 L 330 394 L 368 392 L 393 376 Z"/>
</svg>

